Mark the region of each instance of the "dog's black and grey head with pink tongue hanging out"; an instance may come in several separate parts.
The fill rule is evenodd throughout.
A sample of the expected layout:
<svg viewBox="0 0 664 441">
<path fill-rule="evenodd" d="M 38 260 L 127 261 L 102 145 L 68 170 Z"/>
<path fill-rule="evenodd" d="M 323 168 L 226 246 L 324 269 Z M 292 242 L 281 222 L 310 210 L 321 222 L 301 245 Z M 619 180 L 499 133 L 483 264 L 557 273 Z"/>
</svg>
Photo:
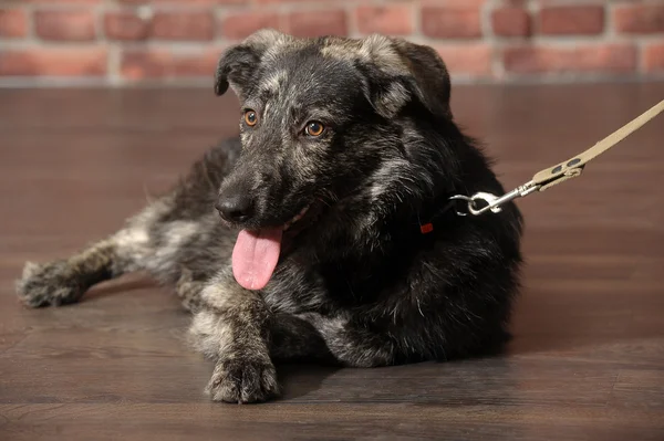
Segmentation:
<svg viewBox="0 0 664 441">
<path fill-rule="evenodd" d="M 402 196 L 438 183 L 426 168 L 445 153 L 415 128 L 452 122 L 449 75 L 430 48 L 263 30 L 222 55 L 215 92 L 229 86 L 241 104 L 242 153 L 217 209 L 242 229 L 234 269 L 247 287 L 269 280 L 284 230 L 322 229 L 328 218 L 361 235 Z"/>
</svg>

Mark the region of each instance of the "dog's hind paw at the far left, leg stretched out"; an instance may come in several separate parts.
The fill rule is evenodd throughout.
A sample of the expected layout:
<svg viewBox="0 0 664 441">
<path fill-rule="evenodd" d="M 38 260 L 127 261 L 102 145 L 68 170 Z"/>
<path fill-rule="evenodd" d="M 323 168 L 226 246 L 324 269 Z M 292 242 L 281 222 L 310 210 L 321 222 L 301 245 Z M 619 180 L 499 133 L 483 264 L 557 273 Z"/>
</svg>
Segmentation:
<svg viewBox="0 0 664 441">
<path fill-rule="evenodd" d="M 81 298 L 83 290 L 64 261 L 43 265 L 28 262 L 15 284 L 17 294 L 30 307 L 60 306 Z"/>
</svg>

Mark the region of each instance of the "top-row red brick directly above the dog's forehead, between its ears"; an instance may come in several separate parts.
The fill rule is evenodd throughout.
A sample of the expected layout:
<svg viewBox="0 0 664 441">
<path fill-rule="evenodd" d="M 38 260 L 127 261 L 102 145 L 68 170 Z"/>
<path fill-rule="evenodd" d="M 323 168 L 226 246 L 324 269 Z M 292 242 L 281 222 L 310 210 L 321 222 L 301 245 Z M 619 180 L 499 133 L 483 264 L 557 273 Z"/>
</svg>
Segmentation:
<svg viewBox="0 0 664 441">
<path fill-rule="evenodd" d="M 286 21 L 286 32 L 295 36 L 346 35 L 349 32 L 344 11 L 292 12 Z"/>
</svg>

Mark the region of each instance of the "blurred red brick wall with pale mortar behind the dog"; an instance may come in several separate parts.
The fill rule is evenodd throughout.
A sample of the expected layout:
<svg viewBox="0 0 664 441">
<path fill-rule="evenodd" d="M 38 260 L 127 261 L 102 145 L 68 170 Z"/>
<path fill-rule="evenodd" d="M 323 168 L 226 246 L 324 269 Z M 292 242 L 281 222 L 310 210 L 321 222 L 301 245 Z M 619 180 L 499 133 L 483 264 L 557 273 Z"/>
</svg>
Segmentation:
<svg viewBox="0 0 664 441">
<path fill-rule="evenodd" d="M 664 77 L 664 0 L 0 0 L 0 85 L 207 84 L 263 27 L 405 35 L 456 81 Z"/>
</svg>

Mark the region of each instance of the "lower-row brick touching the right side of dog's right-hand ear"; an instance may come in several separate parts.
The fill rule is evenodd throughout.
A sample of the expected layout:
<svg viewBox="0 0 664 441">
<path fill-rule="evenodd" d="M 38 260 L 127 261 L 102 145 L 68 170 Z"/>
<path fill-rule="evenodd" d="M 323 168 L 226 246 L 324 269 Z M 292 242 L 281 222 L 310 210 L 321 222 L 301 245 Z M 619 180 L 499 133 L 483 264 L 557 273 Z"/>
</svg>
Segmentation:
<svg viewBox="0 0 664 441">
<path fill-rule="evenodd" d="M 491 46 L 486 43 L 435 46 L 449 74 L 488 76 L 491 74 Z"/>
</svg>

